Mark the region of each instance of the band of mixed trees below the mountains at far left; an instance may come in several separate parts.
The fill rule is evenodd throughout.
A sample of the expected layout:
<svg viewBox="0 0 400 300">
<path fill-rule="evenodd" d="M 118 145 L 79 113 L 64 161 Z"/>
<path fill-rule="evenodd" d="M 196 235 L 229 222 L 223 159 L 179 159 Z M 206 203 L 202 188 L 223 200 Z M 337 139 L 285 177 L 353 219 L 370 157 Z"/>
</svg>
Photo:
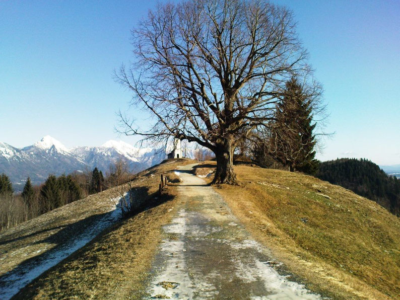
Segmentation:
<svg viewBox="0 0 400 300">
<path fill-rule="evenodd" d="M 97 167 L 93 171 L 74 172 L 68 176 L 50 174 L 41 185 L 32 185 L 28 177 L 22 193 L 14 193 L 10 178 L 0 174 L 0 231 L 123 184 L 133 176 L 128 172 L 126 162 L 119 160 L 110 165 L 105 177 Z"/>
</svg>

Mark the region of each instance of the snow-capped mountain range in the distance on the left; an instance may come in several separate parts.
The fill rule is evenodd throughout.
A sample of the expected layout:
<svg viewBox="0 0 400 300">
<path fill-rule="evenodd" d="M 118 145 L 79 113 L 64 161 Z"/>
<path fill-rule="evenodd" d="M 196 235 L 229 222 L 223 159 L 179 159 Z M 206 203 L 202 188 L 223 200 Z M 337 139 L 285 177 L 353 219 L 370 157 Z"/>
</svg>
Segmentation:
<svg viewBox="0 0 400 300">
<path fill-rule="evenodd" d="M 5 173 L 10 178 L 16 191 L 22 190 L 28 176 L 33 184 L 40 184 L 49 174 L 59 176 L 95 167 L 106 172 L 117 160 L 125 161 L 131 172 L 140 172 L 165 158 L 162 149 L 137 148 L 116 140 L 98 147 L 70 149 L 49 135 L 23 148 L 0 142 L 0 174 Z"/>
</svg>

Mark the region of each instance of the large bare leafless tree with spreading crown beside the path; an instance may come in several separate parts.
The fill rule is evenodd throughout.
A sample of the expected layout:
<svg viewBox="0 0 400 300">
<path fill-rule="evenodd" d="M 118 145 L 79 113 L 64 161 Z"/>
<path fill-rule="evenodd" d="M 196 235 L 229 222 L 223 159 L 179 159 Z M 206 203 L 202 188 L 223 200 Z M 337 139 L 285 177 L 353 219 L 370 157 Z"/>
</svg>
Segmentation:
<svg viewBox="0 0 400 300">
<path fill-rule="evenodd" d="M 268 1 L 160 4 L 132 30 L 135 62 L 117 80 L 150 129 L 120 113 L 125 134 L 195 141 L 215 153 L 214 183 L 235 183 L 235 134 L 265 126 L 292 76 L 309 72 L 292 13 Z"/>
</svg>

